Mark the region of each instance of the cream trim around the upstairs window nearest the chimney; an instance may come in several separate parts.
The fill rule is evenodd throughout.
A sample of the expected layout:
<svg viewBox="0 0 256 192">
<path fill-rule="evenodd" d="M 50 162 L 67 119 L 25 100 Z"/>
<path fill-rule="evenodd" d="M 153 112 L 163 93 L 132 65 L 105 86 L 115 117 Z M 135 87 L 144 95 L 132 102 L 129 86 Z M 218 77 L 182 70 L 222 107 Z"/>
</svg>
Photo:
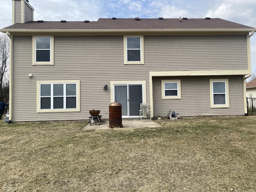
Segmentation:
<svg viewBox="0 0 256 192">
<path fill-rule="evenodd" d="M 36 37 L 50 37 L 50 62 L 36 61 Z M 54 36 L 33 36 L 32 37 L 32 65 L 54 65 Z"/>
</svg>

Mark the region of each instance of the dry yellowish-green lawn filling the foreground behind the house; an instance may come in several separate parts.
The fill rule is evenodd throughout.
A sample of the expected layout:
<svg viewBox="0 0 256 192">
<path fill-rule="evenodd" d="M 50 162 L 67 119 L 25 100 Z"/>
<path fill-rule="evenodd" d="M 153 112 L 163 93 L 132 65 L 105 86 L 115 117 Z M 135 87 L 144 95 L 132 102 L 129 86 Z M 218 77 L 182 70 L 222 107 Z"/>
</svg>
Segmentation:
<svg viewBox="0 0 256 192">
<path fill-rule="evenodd" d="M 0 122 L 0 190 L 256 190 L 256 116 L 156 122 L 163 128 Z"/>
</svg>

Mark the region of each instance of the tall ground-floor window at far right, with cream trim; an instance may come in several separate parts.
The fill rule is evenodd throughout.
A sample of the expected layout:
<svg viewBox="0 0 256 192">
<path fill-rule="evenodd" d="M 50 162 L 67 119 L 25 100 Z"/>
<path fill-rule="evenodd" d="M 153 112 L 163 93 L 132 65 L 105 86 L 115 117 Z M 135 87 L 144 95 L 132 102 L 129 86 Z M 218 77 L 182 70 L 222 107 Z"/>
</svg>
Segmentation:
<svg viewBox="0 0 256 192">
<path fill-rule="evenodd" d="M 228 108 L 228 79 L 210 79 L 211 108 Z"/>
</svg>

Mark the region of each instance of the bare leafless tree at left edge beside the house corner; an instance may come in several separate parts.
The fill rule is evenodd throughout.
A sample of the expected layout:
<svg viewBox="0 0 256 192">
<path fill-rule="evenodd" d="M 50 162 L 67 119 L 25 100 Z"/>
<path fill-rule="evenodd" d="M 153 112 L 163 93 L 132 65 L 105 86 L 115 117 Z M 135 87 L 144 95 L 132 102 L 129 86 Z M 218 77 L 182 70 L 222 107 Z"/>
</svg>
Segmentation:
<svg viewBox="0 0 256 192">
<path fill-rule="evenodd" d="M 6 77 L 9 70 L 9 42 L 8 36 L 0 33 L 0 99 L 5 98 L 6 100 L 9 98 L 9 93 L 8 95 L 6 94 L 6 86 L 8 86 L 9 90 L 9 80 Z"/>
</svg>

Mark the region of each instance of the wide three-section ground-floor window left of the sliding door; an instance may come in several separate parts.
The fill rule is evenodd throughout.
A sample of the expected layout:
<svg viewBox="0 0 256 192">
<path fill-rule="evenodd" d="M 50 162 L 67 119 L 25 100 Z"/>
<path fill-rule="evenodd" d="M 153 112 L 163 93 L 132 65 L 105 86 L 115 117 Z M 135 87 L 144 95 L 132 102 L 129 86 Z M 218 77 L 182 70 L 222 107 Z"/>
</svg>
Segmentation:
<svg viewBox="0 0 256 192">
<path fill-rule="evenodd" d="M 38 112 L 80 111 L 79 81 L 38 81 Z"/>
</svg>

